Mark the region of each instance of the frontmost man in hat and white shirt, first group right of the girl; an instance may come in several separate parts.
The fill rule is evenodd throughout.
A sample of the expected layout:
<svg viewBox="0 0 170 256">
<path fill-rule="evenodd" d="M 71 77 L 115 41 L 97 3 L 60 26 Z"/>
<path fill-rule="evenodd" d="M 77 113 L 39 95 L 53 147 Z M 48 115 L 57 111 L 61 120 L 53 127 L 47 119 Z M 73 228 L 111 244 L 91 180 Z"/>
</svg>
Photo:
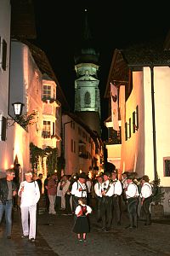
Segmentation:
<svg viewBox="0 0 170 256">
<path fill-rule="evenodd" d="M 104 182 L 101 185 L 101 217 L 104 231 L 111 230 L 113 183 L 111 183 L 110 177 L 110 172 L 104 172 Z"/>
</svg>

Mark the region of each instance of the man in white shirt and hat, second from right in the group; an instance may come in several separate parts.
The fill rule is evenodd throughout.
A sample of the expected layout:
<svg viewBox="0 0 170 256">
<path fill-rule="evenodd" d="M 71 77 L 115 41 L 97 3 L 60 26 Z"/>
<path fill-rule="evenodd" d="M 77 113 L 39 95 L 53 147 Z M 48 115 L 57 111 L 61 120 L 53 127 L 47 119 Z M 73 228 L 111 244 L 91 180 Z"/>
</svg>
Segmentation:
<svg viewBox="0 0 170 256">
<path fill-rule="evenodd" d="M 138 186 L 133 183 L 133 174 L 129 173 L 127 176 L 127 189 L 126 189 L 126 197 L 127 197 L 127 212 L 130 224 L 127 226 L 129 229 L 133 229 L 138 227 L 138 215 L 137 215 L 137 207 L 138 207 L 138 197 L 139 197 L 139 189 Z"/>
</svg>

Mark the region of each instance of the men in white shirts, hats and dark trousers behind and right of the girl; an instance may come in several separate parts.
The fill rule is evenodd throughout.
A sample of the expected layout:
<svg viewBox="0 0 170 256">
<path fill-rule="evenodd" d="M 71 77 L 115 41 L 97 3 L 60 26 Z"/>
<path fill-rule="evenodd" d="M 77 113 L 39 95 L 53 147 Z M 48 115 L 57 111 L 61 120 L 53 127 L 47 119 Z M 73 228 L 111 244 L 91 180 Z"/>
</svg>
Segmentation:
<svg viewBox="0 0 170 256">
<path fill-rule="evenodd" d="M 78 198 L 88 197 L 86 178 L 86 174 L 82 172 L 78 180 L 72 185 L 71 194 L 73 195 L 75 207 L 77 207 Z M 133 175 L 128 172 L 122 173 L 121 181 L 117 178 L 116 172 L 104 172 L 96 177 L 94 194 L 97 203 L 97 221 L 101 222 L 101 230 L 111 230 L 114 218 L 116 219 L 116 224 L 121 225 L 121 205 L 123 202 L 129 218 L 129 225 L 126 228 L 136 229 L 138 227 L 137 207 L 139 197 L 146 218 L 145 224 L 150 224 L 149 208 L 152 189 L 148 176 L 144 175 L 141 178 L 141 185 L 142 189 L 139 194 L 138 186 L 133 182 Z"/>
</svg>

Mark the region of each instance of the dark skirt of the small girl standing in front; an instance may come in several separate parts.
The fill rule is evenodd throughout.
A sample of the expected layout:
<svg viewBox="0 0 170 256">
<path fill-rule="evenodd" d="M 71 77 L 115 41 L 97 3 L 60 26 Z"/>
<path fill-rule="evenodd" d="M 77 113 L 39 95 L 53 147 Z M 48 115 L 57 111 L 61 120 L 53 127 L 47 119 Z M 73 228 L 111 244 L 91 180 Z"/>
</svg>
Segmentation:
<svg viewBox="0 0 170 256">
<path fill-rule="evenodd" d="M 77 217 L 72 231 L 77 234 L 88 233 L 90 231 L 88 217 L 87 216 Z"/>
</svg>

